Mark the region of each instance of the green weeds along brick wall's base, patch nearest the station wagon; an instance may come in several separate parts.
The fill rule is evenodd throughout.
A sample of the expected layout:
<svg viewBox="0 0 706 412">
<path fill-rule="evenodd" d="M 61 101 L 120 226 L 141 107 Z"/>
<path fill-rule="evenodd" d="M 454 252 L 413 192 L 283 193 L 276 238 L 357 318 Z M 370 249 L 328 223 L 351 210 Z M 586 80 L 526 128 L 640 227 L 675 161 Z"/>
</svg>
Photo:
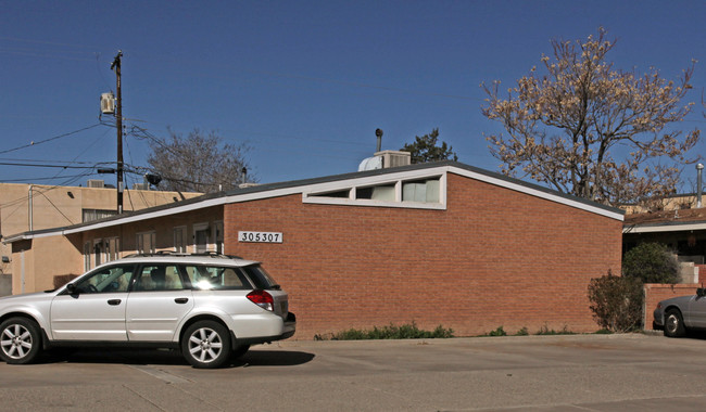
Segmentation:
<svg viewBox="0 0 706 412">
<path fill-rule="evenodd" d="M 373 326 L 371 330 L 350 329 L 332 334 L 314 335 L 314 340 L 368 340 L 368 339 L 433 339 L 454 337 L 452 329 L 441 325 L 433 331 L 424 331 L 415 322 L 403 325 Z"/>
</svg>

